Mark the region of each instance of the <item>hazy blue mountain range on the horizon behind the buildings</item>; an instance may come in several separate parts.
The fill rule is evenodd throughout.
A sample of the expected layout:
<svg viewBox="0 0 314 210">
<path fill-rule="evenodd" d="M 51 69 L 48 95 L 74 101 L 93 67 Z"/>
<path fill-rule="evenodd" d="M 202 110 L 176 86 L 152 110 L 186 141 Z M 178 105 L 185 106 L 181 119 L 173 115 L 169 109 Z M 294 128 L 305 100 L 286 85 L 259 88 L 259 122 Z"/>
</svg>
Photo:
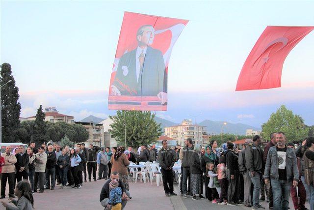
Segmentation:
<svg viewBox="0 0 314 210">
<path fill-rule="evenodd" d="M 155 117 L 155 121 L 157 123 L 161 123 L 161 128 L 164 131 L 165 127 L 173 126 L 173 125 L 178 125 L 180 123 L 172 122 L 170 120 L 164 120 L 162 118 Z M 237 134 L 237 135 L 245 135 L 246 129 L 253 129 L 253 130 L 261 130 L 261 128 L 254 127 L 248 124 L 243 124 L 243 123 L 231 123 L 227 122 L 226 125 L 224 125 L 225 121 L 212 121 L 212 120 L 204 120 L 200 123 L 199 125 L 203 125 L 207 127 L 207 133 L 208 134 L 220 134 L 221 131 L 223 133 L 232 133 L 232 134 Z M 223 130 L 222 130 L 223 129 Z"/>
</svg>

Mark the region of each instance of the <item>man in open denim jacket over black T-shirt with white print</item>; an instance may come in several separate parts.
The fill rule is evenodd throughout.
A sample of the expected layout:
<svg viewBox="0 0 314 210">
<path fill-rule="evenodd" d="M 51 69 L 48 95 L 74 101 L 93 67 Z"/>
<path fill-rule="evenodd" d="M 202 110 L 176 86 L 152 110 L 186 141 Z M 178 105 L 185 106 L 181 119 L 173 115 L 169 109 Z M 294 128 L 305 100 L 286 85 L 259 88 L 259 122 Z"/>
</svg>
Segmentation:
<svg viewBox="0 0 314 210">
<path fill-rule="evenodd" d="M 291 148 L 286 146 L 286 135 L 283 132 L 276 134 L 277 146 L 271 147 L 267 154 L 265 165 L 265 184 L 271 181 L 274 210 L 288 210 L 289 193 L 292 186 L 298 185 L 299 171 L 296 156 Z"/>
</svg>

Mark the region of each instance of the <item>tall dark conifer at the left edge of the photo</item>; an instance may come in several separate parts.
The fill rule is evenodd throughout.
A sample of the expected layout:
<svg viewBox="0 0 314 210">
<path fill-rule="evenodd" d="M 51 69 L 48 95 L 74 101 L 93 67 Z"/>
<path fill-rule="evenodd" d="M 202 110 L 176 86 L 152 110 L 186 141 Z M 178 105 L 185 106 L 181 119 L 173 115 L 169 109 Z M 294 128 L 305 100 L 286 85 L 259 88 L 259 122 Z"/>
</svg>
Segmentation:
<svg viewBox="0 0 314 210">
<path fill-rule="evenodd" d="M 9 63 L 1 65 L 0 74 L 2 142 L 15 142 L 15 130 L 19 128 L 21 113 L 21 104 L 18 102 L 19 88 L 15 86 Z M 10 80 L 11 82 L 9 82 Z M 4 84 L 6 85 L 3 86 Z"/>
</svg>

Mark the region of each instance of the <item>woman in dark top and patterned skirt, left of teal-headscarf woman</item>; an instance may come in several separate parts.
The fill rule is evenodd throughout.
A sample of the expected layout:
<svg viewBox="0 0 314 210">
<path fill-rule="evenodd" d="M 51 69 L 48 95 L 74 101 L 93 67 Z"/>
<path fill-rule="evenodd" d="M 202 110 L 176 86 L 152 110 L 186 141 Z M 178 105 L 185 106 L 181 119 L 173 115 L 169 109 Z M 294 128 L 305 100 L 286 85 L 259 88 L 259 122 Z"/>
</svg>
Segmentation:
<svg viewBox="0 0 314 210">
<path fill-rule="evenodd" d="M 197 200 L 197 198 L 203 199 L 202 189 L 203 189 L 203 179 L 202 174 L 203 171 L 201 169 L 201 147 L 199 145 L 194 146 L 193 154 L 191 156 L 191 193 L 193 195 L 193 200 Z M 198 197 L 196 197 L 198 195 Z"/>
</svg>

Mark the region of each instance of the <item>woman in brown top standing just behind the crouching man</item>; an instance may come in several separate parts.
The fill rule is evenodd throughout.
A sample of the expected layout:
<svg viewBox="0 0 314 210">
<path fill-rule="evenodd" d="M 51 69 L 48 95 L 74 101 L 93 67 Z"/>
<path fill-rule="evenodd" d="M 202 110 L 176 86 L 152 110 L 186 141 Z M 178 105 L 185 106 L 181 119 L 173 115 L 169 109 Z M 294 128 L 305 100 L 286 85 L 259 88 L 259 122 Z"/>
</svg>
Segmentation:
<svg viewBox="0 0 314 210">
<path fill-rule="evenodd" d="M 111 173 L 118 172 L 120 175 L 120 180 L 125 185 L 126 190 L 129 190 L 128 181 L 128 169 L 127 166 L 130 165 L 127 155 L 124 153 L 124 147 L 119 147 L 114 153 L 113 158 L 111 158 Z"/>
</svg>

